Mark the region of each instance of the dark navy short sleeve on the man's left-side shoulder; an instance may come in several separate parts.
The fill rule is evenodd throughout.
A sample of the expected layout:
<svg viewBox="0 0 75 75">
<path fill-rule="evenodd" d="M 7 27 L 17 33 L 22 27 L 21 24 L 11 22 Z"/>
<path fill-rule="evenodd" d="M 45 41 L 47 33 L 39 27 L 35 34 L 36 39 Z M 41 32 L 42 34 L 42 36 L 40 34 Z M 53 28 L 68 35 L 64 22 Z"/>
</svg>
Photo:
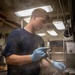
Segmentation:
<svg viewBox="0 0 75 75">
<path fill-rule="evenodd" d="M 19 42 L 18 39 L 19 39 L 18 31 L 17 30 L 12 31 L 11 34 L 8 36 L 5 49 L 2 52 L 3 56 L 7 57 L 16 53 L 16 51 L 18 50 L 18 42 Z"/>
</svg>

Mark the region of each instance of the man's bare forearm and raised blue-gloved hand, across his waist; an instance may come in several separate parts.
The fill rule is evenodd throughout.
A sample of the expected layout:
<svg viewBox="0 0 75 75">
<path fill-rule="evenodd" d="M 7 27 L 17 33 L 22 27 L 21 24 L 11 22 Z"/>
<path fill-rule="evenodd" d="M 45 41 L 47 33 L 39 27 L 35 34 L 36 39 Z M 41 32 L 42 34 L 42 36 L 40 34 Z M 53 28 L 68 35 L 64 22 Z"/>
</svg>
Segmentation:
<svg viewBox="0 0 75 75">
<path fill-rule="evenodd" d="M 31 62 L 36 62 L 45 57 L 46 53 L 45 51 L 47 50 L 47 47 L 40 47 L 37 48 L 33 51 L 32 54 L 30 55 L 16 55 L 12 54 L 8 57 L 6 57 L 6 62 L 8 64 L 12 65 L 23 65 L 23 64 L 28 64 Z"/>
</svg>

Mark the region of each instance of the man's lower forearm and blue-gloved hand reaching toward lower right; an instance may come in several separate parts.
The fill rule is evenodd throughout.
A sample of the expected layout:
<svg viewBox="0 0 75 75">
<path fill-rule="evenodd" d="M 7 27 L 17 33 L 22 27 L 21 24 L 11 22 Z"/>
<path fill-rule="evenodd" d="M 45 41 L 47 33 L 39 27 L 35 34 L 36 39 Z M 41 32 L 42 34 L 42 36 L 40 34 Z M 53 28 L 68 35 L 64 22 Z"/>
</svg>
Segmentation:
<svg viewBox="0 0 75 75">
<path fill-rule="evenodd" d="M 42 64 L 46 67 L 50 67 L 49 65 L 52 65 L 58 71 L 64 71 L 66 69 L 66 65 L 64 63 L 56 62 L 56 61 L 50 60 L 49 58 L 43 59 Z"/>
</svg>

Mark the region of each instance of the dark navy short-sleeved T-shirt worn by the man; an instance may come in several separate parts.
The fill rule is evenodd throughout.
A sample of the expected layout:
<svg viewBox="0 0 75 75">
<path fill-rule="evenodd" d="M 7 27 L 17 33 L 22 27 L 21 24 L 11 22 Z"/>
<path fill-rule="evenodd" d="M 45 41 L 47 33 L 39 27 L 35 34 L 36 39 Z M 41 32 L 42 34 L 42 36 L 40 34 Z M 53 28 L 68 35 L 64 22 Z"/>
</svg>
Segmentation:
<svg viewBox="0 0 75 75">
<path fill-rule="evenodd" d="M 8 36 L 3 55 L 8 57 L 12 54 L 32 54 L 38 45 L 44 46 L 44 41 L 40 36 L 31 34 L 25 29 L 16 29 Z M 21 66 L 7 65 L 8 75 L 39 75 L 40 72 L 39 61 Z"/>
</svg>

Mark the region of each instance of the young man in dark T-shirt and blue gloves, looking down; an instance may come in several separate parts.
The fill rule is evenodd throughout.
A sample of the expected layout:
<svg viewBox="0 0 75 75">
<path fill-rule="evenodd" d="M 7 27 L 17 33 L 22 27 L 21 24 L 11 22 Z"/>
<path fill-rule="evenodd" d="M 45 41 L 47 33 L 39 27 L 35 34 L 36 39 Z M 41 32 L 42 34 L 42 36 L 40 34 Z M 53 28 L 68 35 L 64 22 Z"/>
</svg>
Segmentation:
<svg viewBox="0 0 75 75">
<path fill-rule="evenodd" d="M 45 10 L 35 9 L 30 22 L 24 28 L 11 32 L 3 52 L 8 66 L 8 75 L 39 75 L 39 63 L 46 56 L 48 48 L 43 47 L 44 41 L 35 32 L 42 29 L 48 19 Z"/>
</svg>

